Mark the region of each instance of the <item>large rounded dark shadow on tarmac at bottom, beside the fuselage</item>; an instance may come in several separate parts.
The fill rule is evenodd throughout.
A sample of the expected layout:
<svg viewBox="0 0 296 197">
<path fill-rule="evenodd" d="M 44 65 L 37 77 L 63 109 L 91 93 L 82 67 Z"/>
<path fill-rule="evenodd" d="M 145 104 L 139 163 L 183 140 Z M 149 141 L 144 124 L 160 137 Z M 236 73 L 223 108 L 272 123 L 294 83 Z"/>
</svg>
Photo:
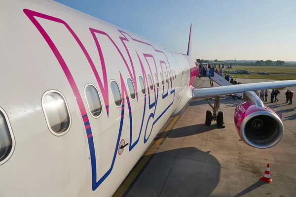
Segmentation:
<svg viewBox="0 0 296 197">
<path fill-rule="evenodd" d="M 195 147 L 155 153 L 148 163 L 125 197 L 209 197 L 220 180 L 219 161 Z"/>
</svg>

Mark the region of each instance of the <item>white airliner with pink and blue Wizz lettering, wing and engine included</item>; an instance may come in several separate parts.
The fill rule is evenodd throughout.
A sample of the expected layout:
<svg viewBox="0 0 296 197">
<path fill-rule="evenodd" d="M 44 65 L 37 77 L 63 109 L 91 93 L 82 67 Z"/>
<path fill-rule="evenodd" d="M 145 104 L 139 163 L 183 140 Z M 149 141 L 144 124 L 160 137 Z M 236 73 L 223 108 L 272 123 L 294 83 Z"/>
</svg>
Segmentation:
<svg viewBox="0 0 296 197">
<path fill-rule="evenodd" d="M 0 197 L 110 197 L 166 121 L 214 97 L 243 93 L 239 138 L 269 148 L 281 115 L 254 93 L 296 80 L 196 88 L 187 53 L 51 0 L 0 3 Z"/>
</svg>

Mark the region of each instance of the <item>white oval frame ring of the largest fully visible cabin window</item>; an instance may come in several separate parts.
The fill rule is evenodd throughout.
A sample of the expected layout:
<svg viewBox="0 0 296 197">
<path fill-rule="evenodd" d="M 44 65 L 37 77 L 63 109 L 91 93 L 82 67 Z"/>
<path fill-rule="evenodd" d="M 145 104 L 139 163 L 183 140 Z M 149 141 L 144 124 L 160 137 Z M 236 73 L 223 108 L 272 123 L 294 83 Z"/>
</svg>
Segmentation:
<svg viewBox="0 0 296 197">
<path fill-rule="evenodd" d="M 61 132 L 61 133 L 57 133 L 57 132 L 55 132 L 55 131 L 53 131 L 53 130 L 51 129 L 51 127 L 50 127 L 50 125 L 49 125 L 49 122 L 48 122 L 47 115 L 46 115 L 46 113 L 45 113 L 45 108 L 44 108 L 44 104 L 43 104 L 43 102 L 44 102 L 44 98 L 45 98 L 45 96 L 46 96 L 48 93 L 58 93 L 60 96 L 62 96 L 62 98 L 64 99 L 65 104 L 66 104 L 67 112 L 68 112 L 68 114 L 69 114 L 69 127 L 68 127 L 68 129 L 67 129 L 66 131 L 63 131 L 63 132 Z M 50 131 L 52 134 L 54 134 L 55 136 L 62 136 L 62 135 L 65 135 L 65 134 L 70 130 L 70 128 L 71 128 L 71 126 L 72 126 L 72 117 L 71 117 L 71 113 L 70 113 L 69 105 L 68 105 L 68 102 L 67 102 L 66 97 L 65 97 L 60 91 L 58 91 L 58 90 L 47 90 L 46 92 L 44 92 L 43 95 L 42 95 L 42 98 L 41 98 L 41 107 L 42 107 L 43 114 L 44 114 L 44 117 L 45 117 L 46 125 L 47 125 L 49 131 Z"/>
</svg>

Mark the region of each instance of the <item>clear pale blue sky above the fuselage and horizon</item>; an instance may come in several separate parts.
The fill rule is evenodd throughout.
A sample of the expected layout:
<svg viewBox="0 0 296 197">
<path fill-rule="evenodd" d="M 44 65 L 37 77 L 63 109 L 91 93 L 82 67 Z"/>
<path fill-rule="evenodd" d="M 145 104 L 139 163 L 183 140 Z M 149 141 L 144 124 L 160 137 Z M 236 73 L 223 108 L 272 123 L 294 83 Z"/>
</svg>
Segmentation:
<svg viewBox="0 0 296 197">
<path fill-rule="evenodd" d="M 207 60 L 296 61 L 296 0 L 56 0 Z"/>
</svg>

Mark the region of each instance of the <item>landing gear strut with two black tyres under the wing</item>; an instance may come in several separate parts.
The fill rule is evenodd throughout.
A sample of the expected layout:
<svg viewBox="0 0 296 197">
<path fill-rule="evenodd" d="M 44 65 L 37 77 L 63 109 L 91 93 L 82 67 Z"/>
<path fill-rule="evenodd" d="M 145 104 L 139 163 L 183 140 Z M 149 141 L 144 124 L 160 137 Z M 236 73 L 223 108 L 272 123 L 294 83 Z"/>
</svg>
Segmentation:
<svg viewBox="0 0 296 197">
<path fill-rule="evenodd" d="M 205 99 L 205 100 L 213 109 L 213 115 L 210 110 L 207 110 L 205 124 L 209 126 L 211 125 L 212 121 L 217 121 L 217 127 L 225 128 L 225 126 L 223 126 L 224 114 L 222 111 L 218 111 L 218 109 L 220 108 L 220 97 L 215 97 L 214 106 L 210 103 L 209 99 Z"/>
</svg>

